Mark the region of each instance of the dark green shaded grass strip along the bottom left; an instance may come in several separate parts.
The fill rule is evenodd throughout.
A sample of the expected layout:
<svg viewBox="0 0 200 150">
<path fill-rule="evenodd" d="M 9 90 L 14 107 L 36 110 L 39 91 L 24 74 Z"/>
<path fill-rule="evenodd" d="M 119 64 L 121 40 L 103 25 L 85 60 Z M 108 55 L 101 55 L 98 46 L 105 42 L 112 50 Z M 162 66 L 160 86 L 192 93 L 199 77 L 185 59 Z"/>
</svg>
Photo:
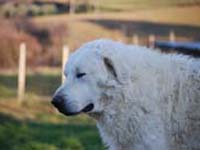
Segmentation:
<svg viewBox="0 0 200 150">
<path fill-rule="evenodd" d="M 94 124 L 19 121 L 0 113 L 1 150 L 103 150 Z"/>
</svg>

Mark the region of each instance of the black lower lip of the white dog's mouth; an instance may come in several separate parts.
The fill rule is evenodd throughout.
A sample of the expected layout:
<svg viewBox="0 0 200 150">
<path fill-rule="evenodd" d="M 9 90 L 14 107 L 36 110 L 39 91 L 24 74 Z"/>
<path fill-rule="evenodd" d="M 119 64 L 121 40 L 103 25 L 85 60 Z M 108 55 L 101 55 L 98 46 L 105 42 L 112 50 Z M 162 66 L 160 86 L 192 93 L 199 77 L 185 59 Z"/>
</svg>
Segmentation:
<svg viewBox="0 0 200 150">
<path fill-rule="evenodd" d="M 90 103 L 80 111 L 68 111 L 65 109 L 58 109 L 58 111 L 66 116 L 75 116 L 80 113 L 90 113 L 94 109 L 94 104 Z"/>
</svg>

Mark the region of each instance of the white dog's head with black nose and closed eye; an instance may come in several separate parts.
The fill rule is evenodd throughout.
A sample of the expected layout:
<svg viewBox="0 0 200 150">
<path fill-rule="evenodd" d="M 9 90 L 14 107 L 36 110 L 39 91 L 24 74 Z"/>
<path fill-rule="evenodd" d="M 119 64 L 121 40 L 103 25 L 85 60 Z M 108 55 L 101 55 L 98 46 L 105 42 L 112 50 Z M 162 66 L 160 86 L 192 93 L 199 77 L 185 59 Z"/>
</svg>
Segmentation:
<svg viewBox="0 0 200 150">
<path fill-rule="evenodd" d="M 93 48 L 93 50 L 92 50 Z M 65 115 L 101 113 L 107 94 L 118 84 L 118 73 L 111 56 L 95 47 L 83 46 L 65 65 L 66 79 L 53 96 L 52 104 Z"/>
</svg>

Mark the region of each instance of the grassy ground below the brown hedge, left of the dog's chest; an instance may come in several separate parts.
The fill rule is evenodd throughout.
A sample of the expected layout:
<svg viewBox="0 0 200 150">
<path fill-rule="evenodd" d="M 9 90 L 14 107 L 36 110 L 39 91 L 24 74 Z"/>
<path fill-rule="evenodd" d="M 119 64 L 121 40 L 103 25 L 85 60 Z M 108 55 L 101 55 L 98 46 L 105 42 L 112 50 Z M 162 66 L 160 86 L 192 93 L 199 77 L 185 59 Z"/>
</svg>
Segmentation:
<svg viewBox="0 0 200 150">
<path fill-rule="evenodd" d="M 29 73 L 24 102 L 16 99 L 15 74 L 0 75 L 1 150 L 103 150 L 95 122 L 65 117 L 50 104 L 60 73 Z"/>
</svg>

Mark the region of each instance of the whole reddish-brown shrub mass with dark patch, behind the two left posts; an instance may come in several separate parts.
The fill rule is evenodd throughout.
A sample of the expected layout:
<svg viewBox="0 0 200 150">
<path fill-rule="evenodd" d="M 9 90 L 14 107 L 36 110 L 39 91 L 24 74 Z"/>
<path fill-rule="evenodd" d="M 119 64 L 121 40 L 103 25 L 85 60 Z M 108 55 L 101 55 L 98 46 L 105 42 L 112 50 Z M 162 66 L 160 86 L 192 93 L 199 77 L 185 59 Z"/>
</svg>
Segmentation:
<svg viewBox="0 0 200 150">
<path fill-rule="evenodd" d="M 1 19 L 0 68 L 18 65 L 19 45 L 27 46 L 27 63 L 30 66 L 61 64 L 61 49 L 67 36 L 65 24 L 49 24 L 39 27 L 27 18 Z"/>
</svg>

